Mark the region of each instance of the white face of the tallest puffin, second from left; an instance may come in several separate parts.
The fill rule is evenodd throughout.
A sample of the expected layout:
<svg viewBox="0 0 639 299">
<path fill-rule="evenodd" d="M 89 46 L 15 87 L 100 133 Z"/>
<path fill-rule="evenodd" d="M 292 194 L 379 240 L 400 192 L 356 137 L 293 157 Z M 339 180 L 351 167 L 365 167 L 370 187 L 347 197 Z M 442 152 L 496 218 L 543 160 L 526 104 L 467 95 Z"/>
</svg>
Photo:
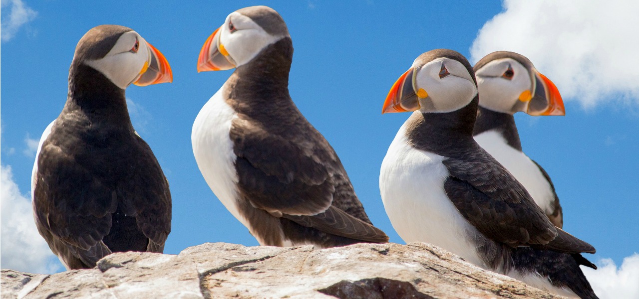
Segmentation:
<svg viewBox="0 0 639 299">
<path fill-rule="evenodd" d="M 235 61 L 236 68 L 249 62 L 263 48 L 281 40 L 285 36 L 273 36 L 266 33 L 262 27 L 249 17 L 238 12 L 228 15 L 224 25 L 220 27 L 220 43 Z"/>
</svg>

